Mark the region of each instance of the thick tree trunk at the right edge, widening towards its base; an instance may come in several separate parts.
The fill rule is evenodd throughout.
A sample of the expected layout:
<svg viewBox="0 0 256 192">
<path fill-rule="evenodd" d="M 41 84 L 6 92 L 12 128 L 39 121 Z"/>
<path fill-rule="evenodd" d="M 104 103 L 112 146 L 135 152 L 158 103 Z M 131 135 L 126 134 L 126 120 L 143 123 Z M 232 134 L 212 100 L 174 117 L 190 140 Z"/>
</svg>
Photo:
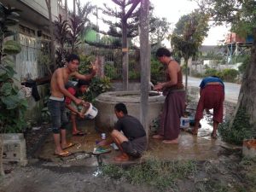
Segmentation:
<svg viewBox="0 0 256 192">
<path fill-rule="evenodd" d="M 256 134 L 256 28 L 253 30 L 251 59 L 241 83 L 238 101 L 241 103 L 237 103 L 236 108 L 241 106 L 241 108 L 246 110 L 250 117 L 250 124 L 253 125 L 254 134 Z M 236 118 L 236 113 L 234 114 L 234 118 Z"/>
</svg>

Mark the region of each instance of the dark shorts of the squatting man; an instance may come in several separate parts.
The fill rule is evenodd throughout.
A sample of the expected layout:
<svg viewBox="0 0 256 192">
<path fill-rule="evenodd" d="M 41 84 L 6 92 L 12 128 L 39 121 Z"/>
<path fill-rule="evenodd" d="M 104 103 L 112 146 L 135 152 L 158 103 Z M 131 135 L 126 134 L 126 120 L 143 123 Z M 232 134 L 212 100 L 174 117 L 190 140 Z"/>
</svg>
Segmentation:
<svg viewBox="0 0 256 192">
<path fill-rule="evenodd" d="M 132 141 L 123 142 L 121 143 L 121 147 L 124 152 L 130 156 L 135 158 L 141 157 L 147 148 L 147 137 L 140 137 Z"/>
</svg>

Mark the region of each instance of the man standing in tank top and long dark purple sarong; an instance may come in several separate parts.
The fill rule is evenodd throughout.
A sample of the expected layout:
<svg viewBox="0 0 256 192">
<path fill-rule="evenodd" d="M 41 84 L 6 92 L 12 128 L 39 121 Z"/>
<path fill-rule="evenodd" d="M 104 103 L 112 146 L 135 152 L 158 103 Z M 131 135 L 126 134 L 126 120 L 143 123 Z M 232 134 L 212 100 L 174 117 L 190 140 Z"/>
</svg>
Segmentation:
<svg viewBox="0 0 256 192">
<path fill-rule="evenodd" d="M 166 96 L 163 113 L 160 119 L 160 130 L 154 139 L 163 139 L 162 143 L 178 143 L 180 118 L 185 111 L 185 91 L 183 90 L 183 74 L 181 67 L 172 59 L 171 52 L 166 48 L 156 51 L 158 60 L 166 65 L 166 82 L 158 83 L 154 90 L 163 91 Z"/>
</svg>

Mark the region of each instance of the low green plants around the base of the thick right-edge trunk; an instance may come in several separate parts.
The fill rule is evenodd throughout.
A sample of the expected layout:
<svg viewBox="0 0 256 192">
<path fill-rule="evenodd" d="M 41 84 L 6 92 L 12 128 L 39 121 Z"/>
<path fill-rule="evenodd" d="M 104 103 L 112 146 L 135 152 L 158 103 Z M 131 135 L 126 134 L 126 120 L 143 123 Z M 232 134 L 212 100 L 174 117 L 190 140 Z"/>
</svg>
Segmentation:
<svg viewBox="0 0 256 192">
<path fill-rule="evenodd" d="M 243 139 L 256 136 L 256 133 L 253 133 L 252 125 L 249 124 L 249 117 L 242 108 L 238 110 L 233 126 L 230 127 L 230 118 L 227 118 L 219 125 L 218 132 L 225 142 L 240 145 Z"/>
</svg>

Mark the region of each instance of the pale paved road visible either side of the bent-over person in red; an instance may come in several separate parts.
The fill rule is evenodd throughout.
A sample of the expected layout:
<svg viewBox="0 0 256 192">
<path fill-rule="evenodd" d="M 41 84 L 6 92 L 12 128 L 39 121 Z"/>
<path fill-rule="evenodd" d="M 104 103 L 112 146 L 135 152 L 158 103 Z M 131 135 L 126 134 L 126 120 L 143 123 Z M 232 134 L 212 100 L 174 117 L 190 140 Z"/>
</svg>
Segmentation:
<svg viewBox="0 0 256 192">
<path fill-rule="evenodd" d="M 183 76 L 183 82 L 185 82 L 185 76 Z M 201 79 L 189 77 L 188 86 L 199 87 Z M 224 82 L 225 85 L 225 101 L 227 102 L 237 102 L 241 84 L 232 84 Z"/>
</svg>

